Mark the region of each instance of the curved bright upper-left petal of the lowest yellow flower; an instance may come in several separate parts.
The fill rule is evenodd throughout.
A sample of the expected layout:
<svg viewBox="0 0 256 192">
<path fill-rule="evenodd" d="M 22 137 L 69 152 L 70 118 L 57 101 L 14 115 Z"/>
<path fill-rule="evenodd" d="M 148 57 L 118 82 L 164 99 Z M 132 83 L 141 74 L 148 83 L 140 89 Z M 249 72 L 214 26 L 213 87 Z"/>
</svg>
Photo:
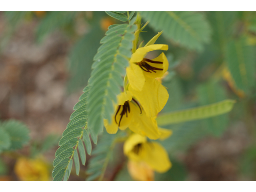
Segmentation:
<svg viewBox="0 0 256 192">
<path fill-rule="evenodd" d="M 145 136 L 141 136 L 139 134 L 132 134 L 125 142 L 124 142 L 124 154 L 128 155 L 132 152 L 134 146 L 139 143 L 145 143 L 147 138 Z"/>
</svg>

